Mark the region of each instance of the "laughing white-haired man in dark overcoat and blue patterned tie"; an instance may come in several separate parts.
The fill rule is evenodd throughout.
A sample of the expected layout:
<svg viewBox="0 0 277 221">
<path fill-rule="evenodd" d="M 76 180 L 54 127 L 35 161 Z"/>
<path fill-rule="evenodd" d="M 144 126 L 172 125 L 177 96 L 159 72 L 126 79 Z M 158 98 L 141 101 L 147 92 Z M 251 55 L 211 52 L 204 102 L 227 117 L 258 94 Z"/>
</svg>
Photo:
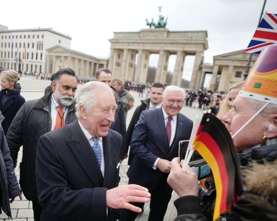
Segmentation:
<svg viewBox="0 0 277 221">
<path fill-rule="evenodd" d="M 40 137 L 36 179 L 44 220 L 116 220 L 114 209 L 141 209 L 144 187 L 119 183 L 122 136 L 110 130 L 116 110 L 108 85 L 91 81 L 77 95 L 73 123 Z M 113 208 L 113 209 L 112 209 Z"/>
</svg>

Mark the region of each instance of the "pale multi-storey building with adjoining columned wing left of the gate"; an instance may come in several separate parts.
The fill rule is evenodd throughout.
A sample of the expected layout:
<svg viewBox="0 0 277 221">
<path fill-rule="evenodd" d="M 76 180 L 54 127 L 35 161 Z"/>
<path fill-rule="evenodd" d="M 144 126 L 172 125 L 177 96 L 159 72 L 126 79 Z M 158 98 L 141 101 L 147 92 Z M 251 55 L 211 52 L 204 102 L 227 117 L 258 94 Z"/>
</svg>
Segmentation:
<svg viewBox="0 0 277 221">
<path fill-rule="evenodd" d="M 0 67 L 16 70 L 19 61 L 18 69 L 23 73 L 53 74 L 61 68 L 72 68 L 82 76 L 92 76 L 98 68 L 107 67 L 108 58 L 72 50 L 70 45 L 70 36 L 52 28 L 9 30 L 0 25 Z"/>
</svg>

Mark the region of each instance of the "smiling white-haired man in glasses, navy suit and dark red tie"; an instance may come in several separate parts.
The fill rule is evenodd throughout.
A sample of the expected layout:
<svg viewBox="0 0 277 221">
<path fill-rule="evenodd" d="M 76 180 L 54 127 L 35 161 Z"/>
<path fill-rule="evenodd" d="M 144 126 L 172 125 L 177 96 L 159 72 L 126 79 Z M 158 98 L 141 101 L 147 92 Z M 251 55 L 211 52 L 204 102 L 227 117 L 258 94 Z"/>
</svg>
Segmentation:
<svg viewBox="0 0 277 221">
<path fill-rule="evenodd" d="M 129 184 L 144 186 L 151 192 L 148 220 L 163 220 L 172 189 L 167 184 L 171 160 L 178 156 L 180 140 L 190 139 L 192 121 L 182 115 L 185 91 L 168 86 L 163 91 L 162 108 L 145 110 L 137 122 L 131 151 L 134 159 L 128 169 Z M 140 203 L 134 205 L 141 207 Z M 137 213 L 123 210 L 121 220 L 134 220 Z"/>
</svg>

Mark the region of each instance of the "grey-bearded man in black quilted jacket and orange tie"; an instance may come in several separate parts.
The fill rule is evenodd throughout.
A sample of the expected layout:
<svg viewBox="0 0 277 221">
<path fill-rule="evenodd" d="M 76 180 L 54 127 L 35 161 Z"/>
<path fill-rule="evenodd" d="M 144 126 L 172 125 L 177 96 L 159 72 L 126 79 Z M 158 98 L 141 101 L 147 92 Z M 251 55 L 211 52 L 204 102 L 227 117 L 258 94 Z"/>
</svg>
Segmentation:
<svg viewBox="0 0 277 221">
<path fill-rule="evenodd" d="M 20 188 L 32 201 L 34 220 L 40 220 L 42 208 L 38 202 L 35 160 L 38 140 L 43 134 L 72 123 L 76 119 L 74 97 L 77 78 L 74 70 L 61 69 L 53 75 L 52 91 L 38 100 L 29 100 L 14 117 L 6 135 L 11 158 L 16 166 L 23 145 L 20 163 Z"/>
</svg>

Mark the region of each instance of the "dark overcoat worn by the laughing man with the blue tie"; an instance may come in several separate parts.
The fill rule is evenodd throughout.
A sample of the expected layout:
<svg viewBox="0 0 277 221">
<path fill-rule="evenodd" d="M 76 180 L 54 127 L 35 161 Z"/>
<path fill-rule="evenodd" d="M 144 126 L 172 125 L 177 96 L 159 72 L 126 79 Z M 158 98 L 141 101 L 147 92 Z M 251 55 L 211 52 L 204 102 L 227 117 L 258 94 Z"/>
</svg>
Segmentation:
<svg viewBox="0 0 277 221">
<path fill-rule="evenodd" d="M 103 137 L 104 179 L 78 119 L 40 137 L 36 156 L 38 199 L 44 220 L 108 220 L 106 191 L 118 186 L 122 136 Z M 108 209 L 108 217 L 114 209 Z"/>
</svg>

